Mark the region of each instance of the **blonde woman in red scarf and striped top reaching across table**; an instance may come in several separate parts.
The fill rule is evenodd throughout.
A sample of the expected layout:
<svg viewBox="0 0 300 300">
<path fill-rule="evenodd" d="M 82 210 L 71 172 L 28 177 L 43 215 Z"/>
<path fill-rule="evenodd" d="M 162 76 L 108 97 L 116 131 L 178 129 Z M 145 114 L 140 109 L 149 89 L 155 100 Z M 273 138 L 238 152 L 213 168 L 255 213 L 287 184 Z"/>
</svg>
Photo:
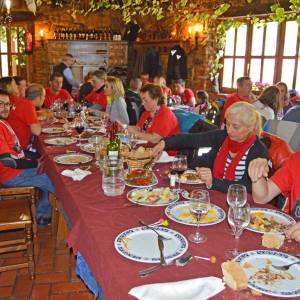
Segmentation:
<svg viewBox="0 0 300 300">
<path fill-rule="evenodd" d="M 249 162 L 268 156 L 265 145 L 259 139 L 260 114 L 253 105 L 238 102 L 228 108 L 225 117 L 226 130 L 166 138 L 154 147 L 154 155 L 163 149 L 197 149 L 197 156 L 189 167 L 196 167 L 208 188 L 227 192 L 230 184 L 239 183 L 251 191 L 251 180 L 247 174 Z"/>
</svg>

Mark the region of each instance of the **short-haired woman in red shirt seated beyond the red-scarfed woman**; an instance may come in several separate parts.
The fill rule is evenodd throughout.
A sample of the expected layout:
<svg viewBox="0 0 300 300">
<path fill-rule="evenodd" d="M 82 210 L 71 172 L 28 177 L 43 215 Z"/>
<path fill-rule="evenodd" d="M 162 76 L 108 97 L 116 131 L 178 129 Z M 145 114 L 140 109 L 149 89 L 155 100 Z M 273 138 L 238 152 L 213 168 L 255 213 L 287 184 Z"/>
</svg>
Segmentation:
<svg viewBox="0 0 300 300">
<path fill-rule="evenodd" d="M 145 108 L 136 126 L 129 126 L 128 132 L 151 143 L 180 132 L 178 120 L 166 106 L 160 86 L 146 84 L 140 91 Z"/>
</svg>

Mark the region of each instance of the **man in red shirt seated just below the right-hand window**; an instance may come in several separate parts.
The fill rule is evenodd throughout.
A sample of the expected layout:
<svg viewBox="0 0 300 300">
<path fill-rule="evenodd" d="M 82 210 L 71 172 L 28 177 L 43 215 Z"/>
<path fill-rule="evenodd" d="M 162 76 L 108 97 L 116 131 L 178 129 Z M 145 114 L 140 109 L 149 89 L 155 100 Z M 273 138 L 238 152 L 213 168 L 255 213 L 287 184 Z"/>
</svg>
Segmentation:
<svg viewBox="0 0 300 300">
<path fill-rule="evenodd" d="M 255 95 L 252 93 L 252 81 L 250 77 L 240 77 L 236 81 L 237 92 L 229 95 L 225 101 L 221 112 L 220 127 L 223 126 L 225 121 L 225 113 L 229 106 L 233 103 L 246 101 L 253 103 L 256 101 Z"/>
</svg>

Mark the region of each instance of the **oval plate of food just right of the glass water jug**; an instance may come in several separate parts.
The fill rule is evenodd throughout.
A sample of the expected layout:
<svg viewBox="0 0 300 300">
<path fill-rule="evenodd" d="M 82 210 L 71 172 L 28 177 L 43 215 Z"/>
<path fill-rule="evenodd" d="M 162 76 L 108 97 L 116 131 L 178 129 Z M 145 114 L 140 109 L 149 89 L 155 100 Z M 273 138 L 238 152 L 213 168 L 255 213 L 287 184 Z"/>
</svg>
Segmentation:
<svg viewBox="0 0 300 300">
<path fill-rule="evenodd" d="M 136 188 L 127 193 L 127 199 L 143 206 L 165 206 L 176 202 L 179 195 L 169 187 Z"/>
</svg>

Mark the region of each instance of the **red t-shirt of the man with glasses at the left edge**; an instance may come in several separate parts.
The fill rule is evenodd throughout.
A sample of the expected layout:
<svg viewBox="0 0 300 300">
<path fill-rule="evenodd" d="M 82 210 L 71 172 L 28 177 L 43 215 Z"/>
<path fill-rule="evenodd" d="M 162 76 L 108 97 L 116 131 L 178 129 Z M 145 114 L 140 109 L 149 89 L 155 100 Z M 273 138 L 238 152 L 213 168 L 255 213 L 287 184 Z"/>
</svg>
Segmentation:
<svg viewBox="0 0 300 300">
<path fill-rule="evenodd" d="M 1 120 L 0 122 L 0 155 L 4 153 L 9 153 L 13 155 L 18 155 L 18 153 L 13 149 L 15 145 L 15 138 L 12 135 L 12 133 L 9 131 L 9 129 L 6 127 L 10 127 L 7 122 L 5 122 L 6 126 L 2 123 L 5 122 L 4 120 Z M 15 178 L 18 176 L 22 170 L 20 169 L 13 169 L 9 167 L 5 167 L 0 162 L 0 182 L 4 183 L 10 179 Z"/>
</svg>

